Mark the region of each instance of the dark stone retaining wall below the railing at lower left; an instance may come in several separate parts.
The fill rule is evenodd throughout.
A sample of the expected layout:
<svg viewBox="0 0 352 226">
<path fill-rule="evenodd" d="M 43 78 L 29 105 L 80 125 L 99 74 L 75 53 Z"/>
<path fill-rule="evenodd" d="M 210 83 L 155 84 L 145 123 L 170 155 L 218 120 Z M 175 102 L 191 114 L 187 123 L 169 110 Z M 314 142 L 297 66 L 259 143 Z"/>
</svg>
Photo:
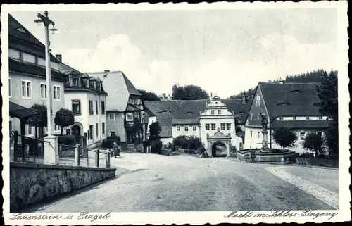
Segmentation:
<svg viewBox="0 0 352 226">
<path fill-rule="evenodd" d="M 10 163 L 10 211 L 115 177 L 115 168 Z"/>
</svg>

